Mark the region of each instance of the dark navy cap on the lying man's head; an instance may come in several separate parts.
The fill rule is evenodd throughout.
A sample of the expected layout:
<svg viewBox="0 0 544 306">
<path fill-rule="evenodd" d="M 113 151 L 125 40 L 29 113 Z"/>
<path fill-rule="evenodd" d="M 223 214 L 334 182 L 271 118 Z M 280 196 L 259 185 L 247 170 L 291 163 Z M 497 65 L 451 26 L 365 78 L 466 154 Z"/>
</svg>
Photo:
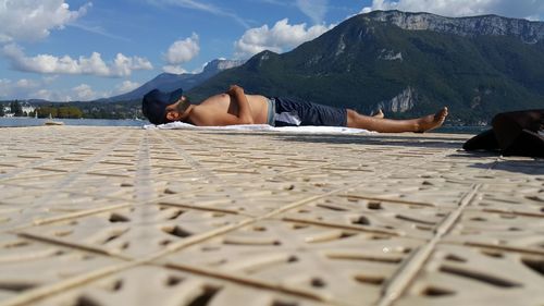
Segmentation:
<svg viewBox="0 0 544 306">
<path fill-rule="evenodd" d="M 172 93 L 153 89 L 144 96 L 141 112 L 152 124 L 166 123 L 166 107 L 175 103 L 182 96 L 182 88 Z"/>
</svg>

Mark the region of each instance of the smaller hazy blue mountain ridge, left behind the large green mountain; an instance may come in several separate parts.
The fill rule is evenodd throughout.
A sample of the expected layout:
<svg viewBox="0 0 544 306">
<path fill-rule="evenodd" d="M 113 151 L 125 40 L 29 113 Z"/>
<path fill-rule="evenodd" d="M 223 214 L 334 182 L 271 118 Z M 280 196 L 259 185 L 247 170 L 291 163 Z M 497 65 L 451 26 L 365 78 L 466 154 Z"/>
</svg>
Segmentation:
<svg viewBox="0 0 544 306">
<path fill-rule="evenodd" d="M 202 70 L 201 73 L 183 73 L 183 74 L 172 74 L 162 73 L 159 74 L 153 79 L 147 82 L 140 87 L 111 98 L 101 99 L 101 101 L 115 102 L 115 101 L 128 101 L 128 100 L 139 100 L 152 89 L 160 89 L 163 91 L 172 91 L 178 88 L 188 90 L 206 79 L 212 77 L 221 71 L 228 70 L 243 64 L 244 61 L 234 60 L 213 60 L 209 62 Z"/>
</svg>

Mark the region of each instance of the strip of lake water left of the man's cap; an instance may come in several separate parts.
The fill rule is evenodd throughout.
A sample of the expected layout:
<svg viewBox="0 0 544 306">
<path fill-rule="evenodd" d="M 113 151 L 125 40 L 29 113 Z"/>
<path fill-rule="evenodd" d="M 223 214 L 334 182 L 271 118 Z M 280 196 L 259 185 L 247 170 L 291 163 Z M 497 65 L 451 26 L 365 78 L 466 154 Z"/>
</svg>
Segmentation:
<svg viewBox="0 0 544 306">
<path fill-rule="evenodd" d="M 0 127 L 41 126 L 50 119 L 36 118 L 0 118 Z M 109 120 L 109 119 L 53 119 L 63 122 L 64 125 L 90 125 L 90 126 L 144 126 L 149 124 L 147 120 Z"/>
</svg>

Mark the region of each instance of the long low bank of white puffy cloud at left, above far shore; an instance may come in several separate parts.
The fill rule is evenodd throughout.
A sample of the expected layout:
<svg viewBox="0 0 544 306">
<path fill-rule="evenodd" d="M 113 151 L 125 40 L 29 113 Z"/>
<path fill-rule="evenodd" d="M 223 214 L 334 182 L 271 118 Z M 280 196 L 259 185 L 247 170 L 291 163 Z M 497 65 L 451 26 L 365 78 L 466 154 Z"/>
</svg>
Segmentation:
<svg viewBox="0 0 544 306">
<path fill-rule="evenodd" d="M 79 59 L 72 59 L 70 56 L 55 57 L 51 54 L 27 57 L 24 50 L 15 44 L 4 46 L 2 51 L 10 60 L 13 69 L 24 72 L 122 77 L 131 75 L 136 70 L 153 69 L 147 59 L 128 58 L 122 53 L 118 53 L 113 63 L 108 64 L 98 52 L 92 52 L 89 58 L 79 57 Z"/>
</svg>

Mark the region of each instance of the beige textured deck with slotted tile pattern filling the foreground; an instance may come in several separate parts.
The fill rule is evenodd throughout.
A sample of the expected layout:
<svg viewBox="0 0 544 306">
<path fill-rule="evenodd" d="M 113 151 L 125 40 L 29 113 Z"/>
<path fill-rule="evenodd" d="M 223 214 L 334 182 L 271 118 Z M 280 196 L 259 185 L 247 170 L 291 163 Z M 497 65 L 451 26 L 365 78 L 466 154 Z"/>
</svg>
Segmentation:
<svg viewBox="0 0 544 306">
<path fill-rule="evenodd" d="M 0 139 L 0 305 L 544 305 L 544 161 L 465 135 Z"/>
</svg>

